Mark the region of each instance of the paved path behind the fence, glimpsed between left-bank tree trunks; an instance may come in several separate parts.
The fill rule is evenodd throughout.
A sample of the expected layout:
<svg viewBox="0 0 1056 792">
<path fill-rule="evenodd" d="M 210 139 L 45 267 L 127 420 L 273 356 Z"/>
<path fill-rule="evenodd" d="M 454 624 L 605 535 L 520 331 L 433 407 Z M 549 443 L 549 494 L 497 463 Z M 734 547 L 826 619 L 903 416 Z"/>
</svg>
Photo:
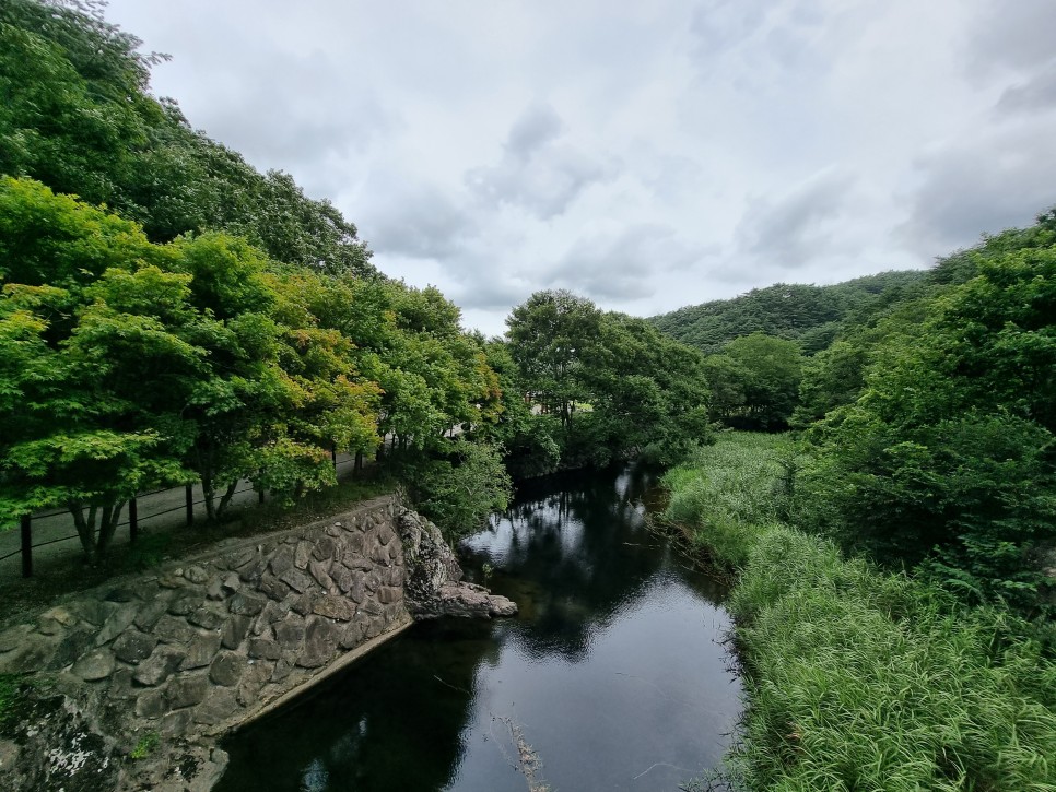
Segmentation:
<svg viewBox="0 0 1056 792">
<path fill-rule="evenodd" d="M 353 459 L 349 454 L 338 454 L 338 478 L 344 478 L 353 470 Z M 195 522 L 204 522 L 206 505 L 201 485 L 193 487 Z M 256 504 L 258 495 L 249 482 L 238 482 L 237 494 L 232 498 L 231 508 L 235 511 Z M 139 532 L 143 534 L 163 531 L 178 531 L 187 527 L 187 501 L 184 487 L 163 489 L 136 499 L 139 512 Z M 47 562 L 59 557 L 77 557 L 83 551 L 73 525 L 73 518 L 68 511 L 52 509 L 44 516 L 35 517 L 33 527 L 33 563 Z M 121 520 L 114 534 L 113 547 L 127 545 L 128 507 L 121 511 Z M 22 575 L 22 536 L 19 525 L 0 531 L 0 579 L 8 580 Z M 3 558 L 3 556 L 7 556 Z"/>
</svg>

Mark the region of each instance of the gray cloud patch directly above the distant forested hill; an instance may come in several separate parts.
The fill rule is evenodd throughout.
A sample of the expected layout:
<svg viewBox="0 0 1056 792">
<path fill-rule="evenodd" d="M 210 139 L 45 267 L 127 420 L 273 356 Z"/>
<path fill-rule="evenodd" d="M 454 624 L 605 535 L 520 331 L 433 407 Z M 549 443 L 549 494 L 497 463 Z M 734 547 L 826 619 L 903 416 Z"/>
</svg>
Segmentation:
<svg viewBox="0 0 1056 792">
<path fill-rule="evenodd" d="M 739 248 L 784 269 L 831 253 L 838 248 L 841 217 L 853 206 L 854 185 L 852 175 L 829 168 L 784 196 L 750 199 L 737 226 Z"/>
</svg>

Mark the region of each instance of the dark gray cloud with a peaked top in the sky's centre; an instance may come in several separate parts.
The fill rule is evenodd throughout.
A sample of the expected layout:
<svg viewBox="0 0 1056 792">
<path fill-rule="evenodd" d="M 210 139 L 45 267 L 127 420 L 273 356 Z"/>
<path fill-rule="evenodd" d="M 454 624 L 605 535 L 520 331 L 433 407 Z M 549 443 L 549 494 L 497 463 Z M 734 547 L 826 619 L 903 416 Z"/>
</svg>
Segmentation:
<svg viewBox="0 0 1056 792">
<path fill-rule="evenodd" d="M 470 169 L 467 186 L 484 204 L 517 206 L 539 220 L 564 214 L 588 187 L 612 178 L 615 165 L 561 142 L 563 130 L 552 107 L 530 106 L 498 164 Z"/>
</svg>

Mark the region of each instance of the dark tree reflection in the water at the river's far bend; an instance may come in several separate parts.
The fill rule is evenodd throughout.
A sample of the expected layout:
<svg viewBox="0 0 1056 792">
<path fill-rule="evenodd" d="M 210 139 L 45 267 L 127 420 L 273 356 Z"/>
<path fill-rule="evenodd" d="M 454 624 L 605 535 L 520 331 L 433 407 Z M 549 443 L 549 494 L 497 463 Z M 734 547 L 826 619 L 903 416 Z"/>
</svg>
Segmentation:
<svg viewBox="0 0 1056 792">
<path fill-rule="evenodd" d="M 645 528 L 637 506 L 650 473 L 627 466 L 531 482 L 490 535 L 464 548 L 470 564 L 500 569 L 498 593 L 526 603 L 519 623 L 525 650 L 585 657 L 602 630 L 660 569 L 668 552 Z M 525 584 L 525 581 L 531 581 Z"/>
</svg>

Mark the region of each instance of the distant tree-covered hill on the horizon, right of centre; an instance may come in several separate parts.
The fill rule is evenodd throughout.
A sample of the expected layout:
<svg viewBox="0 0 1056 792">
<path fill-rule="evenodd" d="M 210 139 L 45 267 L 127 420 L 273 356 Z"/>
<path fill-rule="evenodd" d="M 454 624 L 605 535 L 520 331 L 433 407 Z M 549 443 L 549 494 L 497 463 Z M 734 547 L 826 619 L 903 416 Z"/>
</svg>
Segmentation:
<svg viewBox="0 0 1056 792">
<path fill-rule="evenodd" d="M 913 297 L 930 281 L 922 270 L 881 272 L 831 286 L 777 283 L 732 299 L 687 306 L 650 321 L 664 333 L 707 354 L 753 332 L 798 341 L 805 354 L 825 348 L 847 323 Z"/>
</svg>

